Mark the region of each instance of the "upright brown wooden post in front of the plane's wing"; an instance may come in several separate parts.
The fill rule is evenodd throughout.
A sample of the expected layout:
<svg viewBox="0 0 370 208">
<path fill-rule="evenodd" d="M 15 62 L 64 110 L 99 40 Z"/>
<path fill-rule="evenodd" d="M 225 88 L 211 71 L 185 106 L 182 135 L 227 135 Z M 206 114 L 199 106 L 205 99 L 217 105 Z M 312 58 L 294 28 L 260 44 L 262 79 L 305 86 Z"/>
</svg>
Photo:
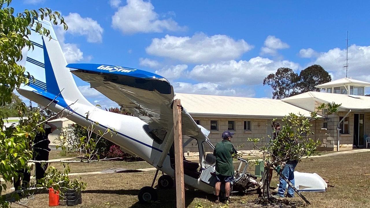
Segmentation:
<svg viewBox="0 0 370 208">
<path fill-rule="evenodd" d="M 176 207 L 185 208 L 184 157 L 182 153 L 181 101 L 174 100 Z"/>
</svg>

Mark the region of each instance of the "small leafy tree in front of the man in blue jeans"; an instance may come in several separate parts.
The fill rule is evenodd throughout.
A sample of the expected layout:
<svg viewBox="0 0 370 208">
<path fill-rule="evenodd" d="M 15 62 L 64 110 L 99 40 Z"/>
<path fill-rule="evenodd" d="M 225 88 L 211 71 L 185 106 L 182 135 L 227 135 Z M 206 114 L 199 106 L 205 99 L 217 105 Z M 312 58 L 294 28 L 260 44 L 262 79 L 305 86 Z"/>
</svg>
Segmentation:
<svg viewBox="0 0 370 208">
<path fill-rule="evenodd" d="M 268 137 L 270 140 L 263 143 L 263 139 L 248 138 L 252 142 L 255 150 L 262 153 L 262 159 L 265 163 L 265 170 L 270 167 L 285 164 L 289 160 L 299 161 L 303 157 L 312 156 L 317 153 L 317 146 L 320 141 L 310 138 L 314 134 L 311 129 L 311 121 L 318 119 L 317 112 L 327 108 L 327 115 L 336 113 L 340 105 L 336 103 L 322 104 L 317 107 L 315 112 L 311 113 L 311 117 L 307 118 L 303 115 L 289 113 L 281 119 L 283 125 L 278 119 L 273 119 L 272 127 L 274 129 L 274 138 Z M 280 129 L 279 129 L 280 128 Z M 255 161 L 258 164 L 258 161 Z M 269 171 L 265 171 L 263 175 L 263 197 L 269 198 Z"/>
</svg>

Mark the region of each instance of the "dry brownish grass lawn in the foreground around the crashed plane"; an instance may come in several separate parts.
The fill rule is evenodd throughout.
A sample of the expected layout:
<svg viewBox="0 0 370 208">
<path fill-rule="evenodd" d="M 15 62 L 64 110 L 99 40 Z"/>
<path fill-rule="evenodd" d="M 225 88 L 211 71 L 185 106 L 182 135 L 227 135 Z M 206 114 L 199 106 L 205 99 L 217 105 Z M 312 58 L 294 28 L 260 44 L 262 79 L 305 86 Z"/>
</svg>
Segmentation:
<svg viewBox="0 0 370 208">
<path fill-rule="evenodd" d="M 122 163 L 122 162 L 121 162 Z M 143 167 L 146 163 L 141 163 Z M 135 164 L 135 166 L 137 166 Z M 125 167 L 124 165 L 120 167 Z M 254 170 L 253 167 L 250 167 Z M 73 169 L 73 168 L 72 168 Z M 312 208 L 364 208 L 370 207 L 370 152 L 346 154 L 332 157 L 307 158 L 297 165 L 297 171 L 317 173 L 329 179 L 327 192 L 303 193 L 311 202 Z M 94 171 L 94 170 L 91 170 Z M 87 190 L 83 192 L 81 208 L 134 208 L 134 207 L 175 207 L 175 190 L 158 190 L 159 201 L 151 205 L 138 203 L 137 194 L 140 188 L 150 185 L 155 171 L 143 173 L 120 173 L 83 175 Z M 272 184 L 277 183 L 274 175 Z M 186 206 L 194 208 L 202 203 L 204 208 L 219 208 L 223 204 L 213 204 L 213 196 L 201 191 L 186 191 Z M 256 194 L 234 197 L 230 208 L 246 207 L 244 201 L 257 198 Z M 299 197 L 289 199 L 302 201 Z M 21 207 L 12 205 L 13 207 Z M 35 195 L 27 204 L 31 208 L 48 207 L 48 195 Z"/>
</svg>

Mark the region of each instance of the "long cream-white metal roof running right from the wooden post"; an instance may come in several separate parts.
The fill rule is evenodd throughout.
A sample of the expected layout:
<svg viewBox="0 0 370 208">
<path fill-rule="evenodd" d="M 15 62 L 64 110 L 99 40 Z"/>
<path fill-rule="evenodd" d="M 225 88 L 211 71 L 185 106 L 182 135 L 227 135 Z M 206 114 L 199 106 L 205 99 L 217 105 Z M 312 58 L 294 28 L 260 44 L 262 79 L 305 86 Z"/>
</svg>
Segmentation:
<svg viewBox="0 0 370 208">
<path fill-rule="evenodd" d="M 185 93 L 176 93 L 175 99 L 181 99 L 181 105 L 192 116 L 274 118 L 289 113 L 310 116 L 307 110 L 275 99 Z"/>
</svg>

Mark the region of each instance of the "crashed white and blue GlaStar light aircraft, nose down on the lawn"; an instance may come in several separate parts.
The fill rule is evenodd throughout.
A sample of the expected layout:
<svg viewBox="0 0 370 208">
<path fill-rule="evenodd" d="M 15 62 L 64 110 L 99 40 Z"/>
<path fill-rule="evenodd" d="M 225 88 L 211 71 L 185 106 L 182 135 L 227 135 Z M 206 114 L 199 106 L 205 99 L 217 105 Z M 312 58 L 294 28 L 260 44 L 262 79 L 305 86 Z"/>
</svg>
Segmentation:
<svg viewBox="0 0 370 208">
<path fill-rule="evenodd" d="M 67 64 L 52 25 L 42 22 L 50 30 L 51 39 L 33 33 L 30 40 L 34 50 L 27 52 L 23 63 L 26 71 L 34 76 L 18 92 L 54 112 L 63 110 L 68 119 L 82 126 L 97 123 L 95 131 L 110 129 L 117 132 L 106 139 L 121 149 L 135 154 L 167 175 L 158 180 L 159 187 L 169 188 L 174 177 L 173 110 L 174 91 L 162 76 L 139 69 L 106 64 Z M 26 57 L 26 56 L 25 56 Z M 90 83 L 134 116 L 108 112 L 88 102 L 81 94 L 73 75 Z M 50 104 L 51 103 L 51 104 Z M 50 104 L 50 105 L 49 105 Z M 88 117 L 86 115 L 88 114 Z M 199 147 L 199 163 L 184 158 L 184 181 L 198 190 L 212 193 L 215 186 L 213 145 L 208 139 L 209 130 L 200 125 L 182 109 L 182 134 L 189 136 L 186 143 L 196 142 Z M 244 190 L 258 187 L 256 177 L 246 173 L 248 162 L 239 158 L 235 171 L 235 183 L 242 183 Z M 155 201 L 157 193 L 152 185 L 139 192 L 139 201 Z M 149 185 L 149 184 L 148 184 Z"/>
</svg>

